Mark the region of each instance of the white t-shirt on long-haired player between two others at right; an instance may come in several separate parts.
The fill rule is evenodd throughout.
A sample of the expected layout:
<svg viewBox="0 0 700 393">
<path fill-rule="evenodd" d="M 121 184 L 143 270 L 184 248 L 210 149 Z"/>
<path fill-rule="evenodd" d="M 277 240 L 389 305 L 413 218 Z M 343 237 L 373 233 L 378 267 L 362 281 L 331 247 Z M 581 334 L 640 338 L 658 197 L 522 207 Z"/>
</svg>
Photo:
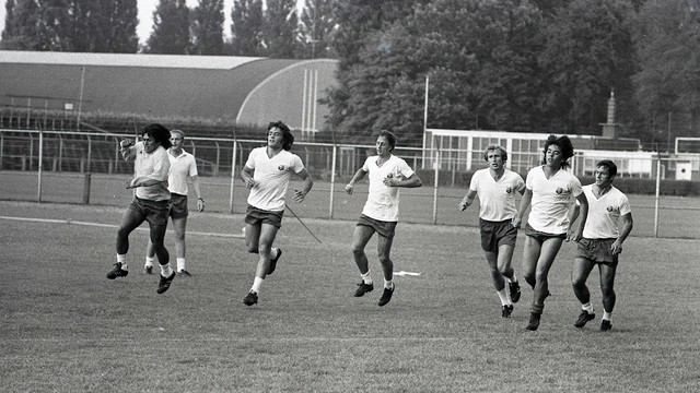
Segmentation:
<svg viewBox="0 0 700 393">
<path fill-rule="evenodd" d="M 527 223 L 533 229 L 552 235 L 569 229 L 569 207 L 581 195 L 581 181 L 571 172 L 560 169 L 547 179 L 542 166 L 527 172 L 525 187 L 533 191 L 532 210 Z"/>
</svg>

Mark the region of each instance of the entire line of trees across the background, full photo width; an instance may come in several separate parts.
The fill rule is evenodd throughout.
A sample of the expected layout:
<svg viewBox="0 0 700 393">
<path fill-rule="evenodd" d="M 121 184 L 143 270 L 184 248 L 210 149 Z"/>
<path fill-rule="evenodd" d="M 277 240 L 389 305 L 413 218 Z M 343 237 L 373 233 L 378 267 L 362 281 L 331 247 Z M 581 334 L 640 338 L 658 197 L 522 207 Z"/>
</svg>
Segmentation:
<svg viewBox="0 0 700 393">
<path fill-rule="evenodd" d="M 5 10 L 2 49 L 338 59 L 328 122 L 355 141 L 418 144 L 427 80 L 431 128 L 599 134 L 614 93 L 619 135 L 700 136 L 700 0 L 160 0 L 142 47 L 136 0 Z"/>
</svg>

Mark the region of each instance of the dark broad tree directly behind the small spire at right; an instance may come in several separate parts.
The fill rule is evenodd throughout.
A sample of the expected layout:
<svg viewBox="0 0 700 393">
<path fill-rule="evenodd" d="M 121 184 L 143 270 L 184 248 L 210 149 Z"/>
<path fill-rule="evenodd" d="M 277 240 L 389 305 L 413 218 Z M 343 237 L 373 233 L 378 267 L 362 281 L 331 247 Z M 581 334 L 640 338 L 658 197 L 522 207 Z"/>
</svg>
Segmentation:
<svg viewBox="0 0 700 393">
<path fill-rule="evenodd" d="M 550 132 L 600 132 L 614 90 L 620 115 L 633 118 L 634 48 L 626 0 L 574 0 L 544 31 L 541 110 Z"/>
</svg>

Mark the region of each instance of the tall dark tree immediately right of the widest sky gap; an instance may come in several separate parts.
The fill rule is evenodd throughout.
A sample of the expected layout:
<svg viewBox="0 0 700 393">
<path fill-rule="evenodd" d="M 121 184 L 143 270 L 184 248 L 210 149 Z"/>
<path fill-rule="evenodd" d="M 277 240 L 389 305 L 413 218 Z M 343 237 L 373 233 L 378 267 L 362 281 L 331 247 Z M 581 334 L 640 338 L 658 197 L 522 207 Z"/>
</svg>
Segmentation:
<svg viewBox="0 0 700 393">
<path fill-rule="evenodd" d="M 189 8 L 185 0 L 161 0 L 153 12 L 147 52 L 187 55 L 190 50 Z"/>
</svg>

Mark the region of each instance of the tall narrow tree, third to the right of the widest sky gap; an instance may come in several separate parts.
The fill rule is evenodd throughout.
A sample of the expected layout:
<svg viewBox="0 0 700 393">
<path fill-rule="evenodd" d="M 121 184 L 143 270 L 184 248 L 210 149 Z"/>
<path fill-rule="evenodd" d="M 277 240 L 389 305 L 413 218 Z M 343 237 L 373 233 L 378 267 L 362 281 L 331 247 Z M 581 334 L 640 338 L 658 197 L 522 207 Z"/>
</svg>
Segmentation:
<svg viewBox="0 0 700 393">
<path fill-rule="evenodd" d="M 235 0 L 231 11 L 231 47 L 234 56 L 262 56 L 262 1 Z"/>
</svg>

